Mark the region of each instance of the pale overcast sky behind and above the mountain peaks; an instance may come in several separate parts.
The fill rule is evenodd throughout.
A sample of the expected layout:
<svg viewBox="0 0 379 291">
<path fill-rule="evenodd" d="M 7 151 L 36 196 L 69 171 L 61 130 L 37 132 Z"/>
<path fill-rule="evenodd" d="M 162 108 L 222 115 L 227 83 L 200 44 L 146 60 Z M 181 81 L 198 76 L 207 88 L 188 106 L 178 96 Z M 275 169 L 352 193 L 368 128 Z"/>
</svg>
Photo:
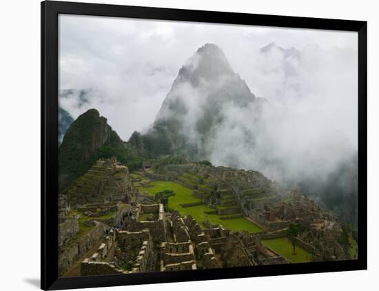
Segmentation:
<svg viewBox="0 0 379 291">
<path fill-rule="evenodd" d="M 327 121 L 356 145 L 355 32 L 61 15 L 59 88 L 96 90 L 87 107 L 79 109 L 74 101 L 62 101 L 61 106 L 74 118 L 88 108 L 98 109 L 127 140 L 134 130 L 141 131 L 154 121 L 178 70 L 205 43 L 223 49 L 254 94 L 288 105 L 294 98 L 286 90 L 282 56 L 259 54 L 259 48 L 273 41 L 305 52 L 303 65 L 296 65 L 296 82 L 307 88 L 300 97 L 309 95 L 312 101 L 302 110 L 314 106 L 315 100 L 328 104 L 318 108 L 320 120 L 327 114 Z"/>
</svg>

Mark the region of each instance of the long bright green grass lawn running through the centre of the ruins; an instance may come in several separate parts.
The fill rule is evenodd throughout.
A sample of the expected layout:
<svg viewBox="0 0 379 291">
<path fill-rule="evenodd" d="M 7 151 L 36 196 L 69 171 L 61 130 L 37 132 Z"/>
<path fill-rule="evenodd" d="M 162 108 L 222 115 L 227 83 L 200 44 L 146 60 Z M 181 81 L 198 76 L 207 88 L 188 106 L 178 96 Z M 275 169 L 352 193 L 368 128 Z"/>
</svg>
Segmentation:
<svg viewBox="0 0 379 291">
<path fill-rule="evenodd" d="M 197 205 L 183 208 L 180 204 L 193 203 L 201 201 L 192 195 L 192 190 L 185 188 L 183 185 L 172 181 L 156 181 L 150 183 L 151 187 L 143 188 L 143 192 L 154 195 L 157 192 L 170 189 L 175 192 L 174 197 L 168 199 L 168 208 L 178 210 L 181 215 L 190 214 L 198 223 L 207 220 L 211 224 L 221 224 L 230 230 L 247 230 L 248 232 L 260 232 L 262 229 L 244 218 L 238 219 L 220 219 L 217 214 L 205 214 L 207 211 L 214 209 L 208 208 L 206 205 Z"/>
</svg>

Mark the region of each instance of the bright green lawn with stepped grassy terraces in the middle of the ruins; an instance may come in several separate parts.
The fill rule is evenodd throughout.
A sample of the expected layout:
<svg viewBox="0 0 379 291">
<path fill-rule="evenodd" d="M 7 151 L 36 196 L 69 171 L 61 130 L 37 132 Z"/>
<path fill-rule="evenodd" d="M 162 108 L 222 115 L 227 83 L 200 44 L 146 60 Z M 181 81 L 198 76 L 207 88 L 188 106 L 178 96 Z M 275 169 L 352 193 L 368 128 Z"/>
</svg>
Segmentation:
<svg viewBox="0 0 379 291">
<path fill-rule="evenodd" d="M 212 188 L 207 184 L 207 179 L 191 173 L 178 175 L 173 181 L 165 181 L 164 178 L 153 181 L 148 176 L 156 177 L 152 171 L 133 172 L 134 187 L 150 197 L 166 189 L 174 191 L 175 196 L 169 198 L 168 208 L 178 210 L 181 215 L 192 215 L 205 227 L 223 225 L 231 230 L 262 231 L 258 225 L 243 217 L 236 197 L 229 189 Z"/>
</svg>

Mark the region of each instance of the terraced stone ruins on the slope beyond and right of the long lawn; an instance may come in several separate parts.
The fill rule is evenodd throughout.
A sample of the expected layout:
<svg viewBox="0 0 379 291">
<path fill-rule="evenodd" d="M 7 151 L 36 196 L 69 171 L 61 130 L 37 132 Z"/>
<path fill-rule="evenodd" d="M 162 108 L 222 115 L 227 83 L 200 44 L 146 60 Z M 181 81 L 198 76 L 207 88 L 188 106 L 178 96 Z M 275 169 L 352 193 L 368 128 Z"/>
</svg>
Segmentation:
<svg viewBox="0 0 379 291">
<path fill-rule="evenodd" d="M 314 261 L 349 259 L 346 248 L 337 240 L 342 229 L 336 214 L 321 210 L 300 190 L 280 188 L 260 172 L 189 163 L 165 165 L 149 175 L 150 179 L 176 181 L 193 188 L 194 196 L 203 199 L 203 203 L 209 195 L 218 196 L 224 208 L 214 213 L 223 215 L 221 219 L 245 217 L 263 228 L 265 238 L 285 237 L 290 223 L 304 225 L 308 231 L 298 238 L 298 245 L 314 254 Z M 199 184 L 196 188 L 191 182 L 205 186 Z"/>
</svg>

